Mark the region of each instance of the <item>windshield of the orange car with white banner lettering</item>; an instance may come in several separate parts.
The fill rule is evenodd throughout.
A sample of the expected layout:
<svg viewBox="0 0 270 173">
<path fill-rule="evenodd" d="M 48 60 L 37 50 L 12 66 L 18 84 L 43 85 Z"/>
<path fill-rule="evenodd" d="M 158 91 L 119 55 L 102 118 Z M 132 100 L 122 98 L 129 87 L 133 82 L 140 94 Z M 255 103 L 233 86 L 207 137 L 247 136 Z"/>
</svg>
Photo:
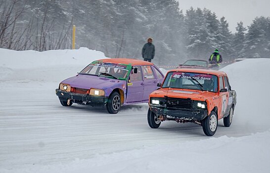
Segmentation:
<svg viewBox="0 0 270 173">
<path fill-rule="evenodd" d="M 217 92 L 218 77 L 201 73 L 169 72 L 162 88 L 169 87 Z"/>
</svg>

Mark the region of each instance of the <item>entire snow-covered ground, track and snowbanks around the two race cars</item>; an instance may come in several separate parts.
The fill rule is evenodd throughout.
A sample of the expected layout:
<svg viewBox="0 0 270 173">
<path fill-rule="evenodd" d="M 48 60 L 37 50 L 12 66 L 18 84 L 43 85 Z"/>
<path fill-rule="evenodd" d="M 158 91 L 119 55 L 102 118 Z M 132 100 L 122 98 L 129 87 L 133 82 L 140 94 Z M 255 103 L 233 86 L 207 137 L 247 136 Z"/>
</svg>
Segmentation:
<svg viewBox="0 0 270 173">
<path fill-rule="evenodd" d="M 147 125 L 147 104 L 116 115 L 62 107 L 55 88 L 102 52 L 0 49 L 0 173 L 268 173 L 270 59 L 226 66 L 237 91 L 231 127 L 205 136 L 195 124 Z"/>
</svg>

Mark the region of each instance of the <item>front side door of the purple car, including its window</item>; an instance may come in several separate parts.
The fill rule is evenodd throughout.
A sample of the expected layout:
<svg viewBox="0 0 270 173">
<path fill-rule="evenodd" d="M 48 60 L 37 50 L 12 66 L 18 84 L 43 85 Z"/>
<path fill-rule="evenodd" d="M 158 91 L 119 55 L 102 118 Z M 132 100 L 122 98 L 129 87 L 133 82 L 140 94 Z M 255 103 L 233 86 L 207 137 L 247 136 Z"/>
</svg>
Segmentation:
<svg viewBox="0 0 270 173">
<path fill-rule="evenodd" d="M 127 98 L 126 103 L 142 101 L 144 83 L 142 80 L 142 72 L 140 66 L 134 66 L 137 68 L 137 73 L 132 70 L 127 86 Z"/>
</svg>

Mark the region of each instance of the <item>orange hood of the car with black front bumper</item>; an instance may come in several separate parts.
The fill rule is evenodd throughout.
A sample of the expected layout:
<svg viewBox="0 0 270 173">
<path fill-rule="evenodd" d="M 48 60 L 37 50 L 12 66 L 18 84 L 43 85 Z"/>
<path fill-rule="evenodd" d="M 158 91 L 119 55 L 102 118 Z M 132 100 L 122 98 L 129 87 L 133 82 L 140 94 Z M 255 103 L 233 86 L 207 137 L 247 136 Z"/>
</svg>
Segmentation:
<svg viewBox="0 0 270 173">
<path fill-rule="evenodd" d="M 209 91 L 199 91 L 190 89 L 175 89 L 175 88 L 161 88 L 155 90 L 150 94 L 150 97 L 176 97 L 176 98 L 190 98 L 192 100 L 205 101 L 208 98 L 214 97 L 217 93 Z"/>
</svg>

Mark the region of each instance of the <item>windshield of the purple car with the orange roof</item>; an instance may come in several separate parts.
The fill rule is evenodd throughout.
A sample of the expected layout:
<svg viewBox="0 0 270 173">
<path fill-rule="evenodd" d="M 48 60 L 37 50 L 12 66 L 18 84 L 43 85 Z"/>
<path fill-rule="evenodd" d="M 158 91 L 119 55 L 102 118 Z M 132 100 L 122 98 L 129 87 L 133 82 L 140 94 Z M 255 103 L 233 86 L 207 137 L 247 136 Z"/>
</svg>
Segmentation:
<svg viewBox="0 0 270 173">
<path fill-rule="evenodd" d="M 90 64 L 80 74 L 104 76 L 115 79 L 125 79 L 129 70 L 126 65 L 111 64 L 111 63 L 98 63 Z"/>
</svg>

